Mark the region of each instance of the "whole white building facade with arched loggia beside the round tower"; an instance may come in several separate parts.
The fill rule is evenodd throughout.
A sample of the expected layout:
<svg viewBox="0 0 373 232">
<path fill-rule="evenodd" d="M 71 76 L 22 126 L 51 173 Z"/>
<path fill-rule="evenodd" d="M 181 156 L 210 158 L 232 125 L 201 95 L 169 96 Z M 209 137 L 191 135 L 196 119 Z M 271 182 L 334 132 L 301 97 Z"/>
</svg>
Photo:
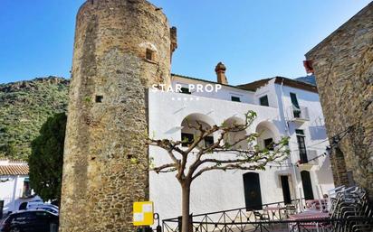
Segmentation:
<svg viewBox="0 0 373 232">
<path fill-rule="evenodd" d="M 189 89 L 189 84 L 202 85 L 205 91 Z M 253 110 L 257 117 L 247 133 L 259 133 L 257 144 L 262 147 L 289 136 L 291 156 L 281 164 L 268 165 L 266 171 L 204 173 L 191 186 L 192 213 L 244 208 L 253 203 L 319 199 L 334 188 L 330 161 L 323 155 L 329 143 L 315 87 L 277 77 L 239 87 L 225 84 L 217 91 L 206 91 L 206 86 L 215 84 L 173 75 L 173 89 L 181 85 L 184 93 L 149 90 L 149 135 L 181 141 L 193 134 L 185 125 L 186 117 L 210 126 L 222 125 L 240 123 L 244 114 Z M 157 147 L 150 147 L 149 154 L 156 165 L 169 162 L 167 153 Z M 149 190 L 161 219 L 181 214 L 181 188 L 175 173 L 150 172 Z"/>
</svg>

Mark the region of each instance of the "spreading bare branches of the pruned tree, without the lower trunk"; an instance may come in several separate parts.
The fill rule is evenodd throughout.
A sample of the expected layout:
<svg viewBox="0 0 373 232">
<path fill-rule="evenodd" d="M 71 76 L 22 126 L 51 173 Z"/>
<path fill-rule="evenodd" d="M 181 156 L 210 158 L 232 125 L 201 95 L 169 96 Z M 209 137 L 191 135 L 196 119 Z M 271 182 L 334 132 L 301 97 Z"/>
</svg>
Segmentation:
<svg viewBox="0 0 373 232">
<path fill-rule="evenodd" d="M 201 175 L 203 172 L 210 170 L 255 170 L 255 169 L 264 169 L 264 166 L 268 162 L 273 162 L 276 159 L 281 158 L 282 156 L 288 155 L 288 149 L 283 150 L 284 147 L 288 145 L 288 139 L 282 139 L 278 144 L 273 143 L 274 151 L 269 151 L 269 149 L 264 148 L 262 151 L 258 146 L 253 146 L 253 142 L 258 138 L 257 133 L 252 133 L 249 135 L 242 135 L 239 139 L 234 138 L 234 142 L 229 144 L 227 142 L 227 135 L 230 133 L 239 133 L 246 132 L 246 129 L 252 125 L 256 114 L 253 111 L 249 111 L 245 114 L 244 124 L 232 124 L 232 125 L 213 125 L 210 128 L 204 127 L 203 122 L 196 120 L 195 124 L 191 124 L 188 121 L 187 126 L 189 128 L 196 130 L 196 136 L 193 139 L 193 142 L 189 144 L 188 148 L 185 150 L 180 145 L 186 142 L 183 141 L 170 141 L 168 139 L 163 140 L 149 140 L 149 144 L 155 145 L 165 149 L 174 163 L 168 163 L 153 170 L 157 173 L 159 172 L 175 172 L 177 171 L 177 180 L 180 182 L 183 181 L 193 181 Z M 206 137 L 214 135 L 216 132 L 219 132 L 219 136 L 215 143 L 206 146 L 200 147 L 202 141 Z M 248 148 L 241 149 L 235 148 L 237 144 L 246 141 Z M 190 161 L 190 154 L 196 152 L 196 158 L 193 162 L 187 165 L 188 160 Z M 175 153 L 181 154 L 180 159 L 177 159 Z M 206 153 L 214 155 L 215 153 L 224 153 L 225 157 L 222 159 L 216 159 L 208 157 L 203 159 Z M 228 159 L 229 155 L 234 155 L 234 158 Z M 188 159 L 189 158 L 189 159 Z M 205 167 L 201 167 L 204 164 L 211 164 Z M 201 169 L 199 169 L 201 167 Z M 188 169 L 188 172 L 186 172 Z M 198 170 L 199 169 L 199 170 Z"/>
</svg>

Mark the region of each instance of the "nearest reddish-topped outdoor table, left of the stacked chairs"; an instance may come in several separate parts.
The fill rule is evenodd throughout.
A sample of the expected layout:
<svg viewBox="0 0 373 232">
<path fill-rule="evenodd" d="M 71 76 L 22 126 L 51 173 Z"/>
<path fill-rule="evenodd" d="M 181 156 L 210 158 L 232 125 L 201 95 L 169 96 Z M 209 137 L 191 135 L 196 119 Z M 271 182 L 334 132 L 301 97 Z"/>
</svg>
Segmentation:
<svg viewBox="0 0 373 232">
<path fill-rule="evenodd" d="M 323 212 L 320 212 L 319 210 L 309 210 L 309 211 L 304 211 L 302 213 L 289 216 L 289 219 L 293 221 L 311 220 L 311 219 L 320 220 L 320 219 L 327 219 L 327 218 L 330 218 L 329 213 L 323 213 Z M 297 224 L 291 223 L 289 226 L 293 228 L 293 227 L 296 227 Z M 302 223 L 302 227 L 316 228 L 318 232 L 320 231 L 318 222 L 316 223 L 305 222 L 305 223 Z"/>
</svg>

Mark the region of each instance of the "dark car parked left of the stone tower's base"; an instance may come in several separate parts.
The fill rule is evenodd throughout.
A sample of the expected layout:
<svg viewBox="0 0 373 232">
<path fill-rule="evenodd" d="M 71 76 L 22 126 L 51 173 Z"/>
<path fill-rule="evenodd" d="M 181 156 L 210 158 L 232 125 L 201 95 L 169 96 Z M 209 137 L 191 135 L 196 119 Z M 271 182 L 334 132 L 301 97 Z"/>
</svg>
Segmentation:
<svg viewBox="0 0 373 232">
<path fill-rule="evenodd" d="M 0 232 L 53 232 L 57 227 L 58 215 L 41 209 L 22 210 L 6 217 Z"/>
</svg>

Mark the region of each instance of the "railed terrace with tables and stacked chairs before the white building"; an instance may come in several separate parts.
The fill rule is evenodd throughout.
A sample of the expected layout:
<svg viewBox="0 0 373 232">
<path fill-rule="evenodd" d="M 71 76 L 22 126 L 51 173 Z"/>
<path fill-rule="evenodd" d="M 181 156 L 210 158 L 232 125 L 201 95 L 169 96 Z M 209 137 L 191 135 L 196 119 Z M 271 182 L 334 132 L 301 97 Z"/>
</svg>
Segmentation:
<svg viewBox="0 0 373 232">
<path fill-rule="evenodd" d="M 192 215 L 191 232 L 373 231 L 373 212 L 367 193 L 359 187 L 340 187 L 322 200 L 292 200 L 255 209 L 230 209 Z M 164 232 L 180 232 L 181 217 L 163 220 Z"/>
</svg>

